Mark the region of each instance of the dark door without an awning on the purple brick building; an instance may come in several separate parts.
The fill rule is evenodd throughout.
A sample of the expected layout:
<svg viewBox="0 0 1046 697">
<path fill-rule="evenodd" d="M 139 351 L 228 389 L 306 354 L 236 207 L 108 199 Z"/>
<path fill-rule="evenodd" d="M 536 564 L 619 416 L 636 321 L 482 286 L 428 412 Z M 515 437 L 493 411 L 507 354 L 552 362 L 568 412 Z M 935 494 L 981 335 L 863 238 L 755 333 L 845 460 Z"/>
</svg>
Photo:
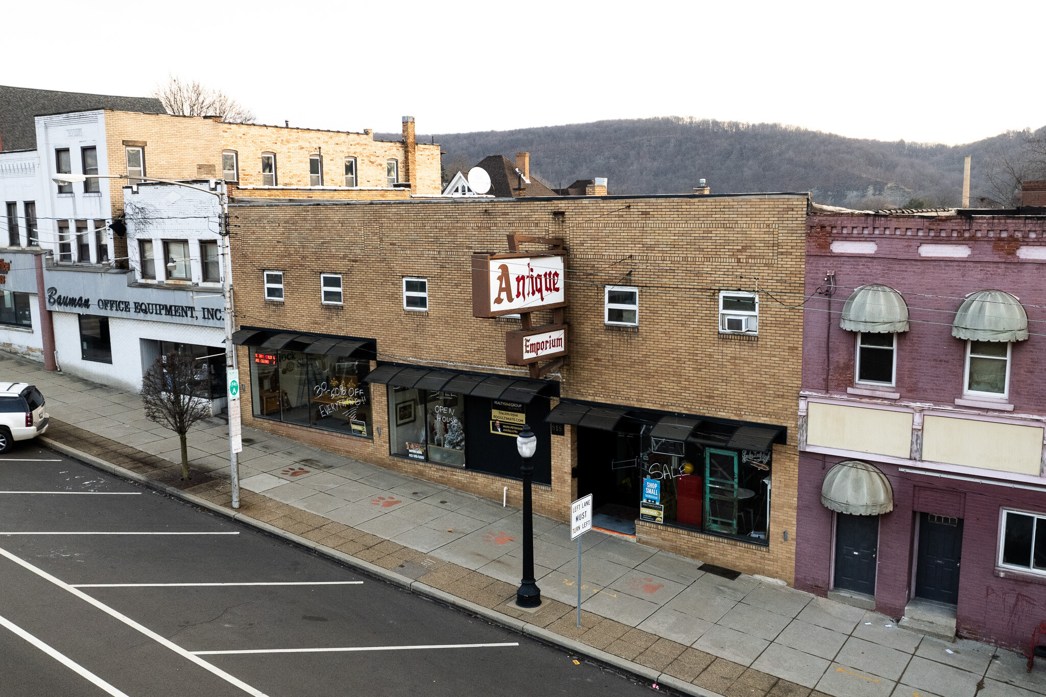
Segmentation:
<svg viewBox="0 0 1046 697">
<path fill-rule="evenodd" d="M 915 597 L 957 605 L 962 518 L 919 514 Z"/>
</svg>

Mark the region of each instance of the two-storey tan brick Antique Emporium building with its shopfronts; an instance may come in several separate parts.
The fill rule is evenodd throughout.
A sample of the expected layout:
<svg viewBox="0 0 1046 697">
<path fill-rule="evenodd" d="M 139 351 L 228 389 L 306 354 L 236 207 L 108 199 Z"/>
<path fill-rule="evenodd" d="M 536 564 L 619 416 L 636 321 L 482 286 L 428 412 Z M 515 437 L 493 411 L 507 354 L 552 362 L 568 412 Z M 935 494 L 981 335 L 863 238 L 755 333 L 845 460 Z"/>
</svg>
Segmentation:
<svg viewBox="0 0 1046 697">
<path fill-rule="evenodd" d="M 505 435 L 526 421 L 538 512 L 591 493 L 597 526 L 792 583 L 806 210 L 802 194 L 234 200 L 244 422 L 519 504 Z M 565 241 L 568 360 L 542 380 L 506 364 L 519 319 L 473 316 L 472 254 L 506 234 Z"/>
</svg>

